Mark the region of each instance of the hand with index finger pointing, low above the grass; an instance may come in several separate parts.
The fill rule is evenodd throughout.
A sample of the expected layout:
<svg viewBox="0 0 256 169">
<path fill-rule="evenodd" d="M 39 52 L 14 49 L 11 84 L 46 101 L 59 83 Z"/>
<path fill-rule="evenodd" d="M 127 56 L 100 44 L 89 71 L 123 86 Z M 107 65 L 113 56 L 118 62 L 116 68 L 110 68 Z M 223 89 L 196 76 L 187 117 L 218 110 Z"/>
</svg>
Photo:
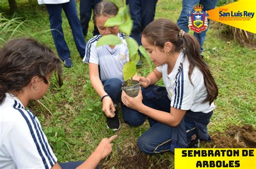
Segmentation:
<svg viewBox="0 0 256 169">
<path fill-rule="evenodd" d="M 104 159 L 105 157 L 109 156 L 113 147 L 113 143 L 111 143 L 111 141 L 116 138 L 117 135 L 114 135 L 110 138 L 104 138 L 102 141 L 100 141 L 98 147 L 95 149 L 95 153 L 100 155 L 100 159 Z"/>
</svg>

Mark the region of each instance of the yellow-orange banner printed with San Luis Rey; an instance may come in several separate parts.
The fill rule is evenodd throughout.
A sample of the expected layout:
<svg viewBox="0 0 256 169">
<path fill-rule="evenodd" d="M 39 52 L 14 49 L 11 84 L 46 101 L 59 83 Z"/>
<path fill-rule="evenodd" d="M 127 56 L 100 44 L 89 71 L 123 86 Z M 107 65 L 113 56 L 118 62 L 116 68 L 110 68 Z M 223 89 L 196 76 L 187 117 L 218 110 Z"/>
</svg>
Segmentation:
<svg viewBox="0 0 256 169">
<path fill-rule="evenodd" d="M 240 0 L 207 11 L 213 21 L 256 33 L 256 1 Z"/>
</svg>

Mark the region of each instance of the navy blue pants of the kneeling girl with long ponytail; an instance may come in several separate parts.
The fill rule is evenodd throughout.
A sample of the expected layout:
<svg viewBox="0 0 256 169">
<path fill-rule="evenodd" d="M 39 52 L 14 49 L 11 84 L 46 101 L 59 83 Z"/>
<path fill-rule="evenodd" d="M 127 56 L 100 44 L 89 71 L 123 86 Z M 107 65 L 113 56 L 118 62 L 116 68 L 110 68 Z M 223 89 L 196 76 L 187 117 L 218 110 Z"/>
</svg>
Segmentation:
<svg viewBox="0 0 256 169">
<path fill-rule="evenodd" d="M 151 85 L 147 88 L 142 87 L 142 94 L 143 104 L 146 106 L 170 112 L 170 100 L 167 97 L 165 87 L 156 85 Z M 133 116 L 140 118 L 141 121 L 146 119 L 144 114 L 136 110 L 127 109 L 126 107 L 124 109 L 123 112 L 133 114 Z M 137 115 L 134 115 L 136 113 Z M 211 116 L 212 112 L 203 113 L 188 110 L 177 127 L 171 127 L 147 117 L 151 127 L 139 137 L 138 147 L 144 153 L 156 154 L 165 151 L 174 152 L 174 148 L 186 147 L 187 143 L 191 141 L 193 134 L 197 134 L 199 139 L 208 141 L 210 137 L 208 136 L 206 126 L 210 122 Z M 139 125 L 142 124 L 141 121 L 138 123 Z M 133 125 L 136 126 L 136 124 Z"/>
</svg>

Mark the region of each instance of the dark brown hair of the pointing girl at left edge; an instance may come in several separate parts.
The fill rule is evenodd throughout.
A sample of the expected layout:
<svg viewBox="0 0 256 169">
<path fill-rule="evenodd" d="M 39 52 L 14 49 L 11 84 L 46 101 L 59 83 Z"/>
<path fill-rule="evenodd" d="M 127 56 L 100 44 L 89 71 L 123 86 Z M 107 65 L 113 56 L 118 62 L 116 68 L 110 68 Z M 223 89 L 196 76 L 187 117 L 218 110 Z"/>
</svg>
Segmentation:
<svg viewBox="0 0 256 169">
<path fill-rule="evenodd" d="M 0 50 L 0 104 L 7 92 L 20 92 L 38 76 L 48 83 L 46 75 L 55 71 L 62 86 L 62 65 L 50 48 L 30 38 L 11 40 Z"/>
</svg>

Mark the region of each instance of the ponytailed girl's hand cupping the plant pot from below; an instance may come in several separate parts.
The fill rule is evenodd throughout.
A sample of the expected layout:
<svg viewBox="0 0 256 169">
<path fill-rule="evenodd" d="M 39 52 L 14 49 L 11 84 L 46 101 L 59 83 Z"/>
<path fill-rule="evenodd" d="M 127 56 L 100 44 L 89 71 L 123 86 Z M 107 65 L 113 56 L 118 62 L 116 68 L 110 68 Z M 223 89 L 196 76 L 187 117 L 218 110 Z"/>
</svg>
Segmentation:
<svg viewBox="0 0 256 169">
<path fill-rule="evenodd" d="M 138 107 L 140 107 L 142 103 L 142 90 L 139 90 L 139 94 L 136 97 L 130 97 L 128 96 L 124 91 L 122 92 L 122 102 L 132 109 L 138 110 Z"/>
</svg>

